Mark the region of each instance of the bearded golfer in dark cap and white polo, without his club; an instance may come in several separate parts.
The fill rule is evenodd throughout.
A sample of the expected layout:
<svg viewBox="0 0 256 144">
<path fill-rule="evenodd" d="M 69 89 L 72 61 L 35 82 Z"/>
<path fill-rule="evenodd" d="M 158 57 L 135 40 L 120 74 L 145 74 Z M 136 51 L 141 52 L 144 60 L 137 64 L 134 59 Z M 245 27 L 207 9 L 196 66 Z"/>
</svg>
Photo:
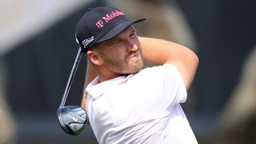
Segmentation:
<svg viewBox="0 0 256 144">
<path fill-rule="evenodd" d="M 99 143 L 198 143 L 180 105 L 198 57 L 174 42 L 138 37 L 133 24 L 143 20 L 96 7 L 78 21 L 90 126 Z"/>
</svg>

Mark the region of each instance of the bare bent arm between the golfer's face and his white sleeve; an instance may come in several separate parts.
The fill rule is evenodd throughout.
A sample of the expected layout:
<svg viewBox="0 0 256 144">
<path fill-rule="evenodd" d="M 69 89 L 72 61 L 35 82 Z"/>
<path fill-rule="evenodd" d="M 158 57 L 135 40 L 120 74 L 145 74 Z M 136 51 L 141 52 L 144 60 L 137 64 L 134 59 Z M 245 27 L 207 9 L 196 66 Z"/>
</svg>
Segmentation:
<svg viewBox="0 0 256 144">
<path fill-rule="evenodd" d="M 139 37 L 142 44 L 142 57 L 152 66 L 173 64 L 182 74 L 188 89 L 198 66 L 198 57 L 185 46 L 156 38 Z"/>
</svg>

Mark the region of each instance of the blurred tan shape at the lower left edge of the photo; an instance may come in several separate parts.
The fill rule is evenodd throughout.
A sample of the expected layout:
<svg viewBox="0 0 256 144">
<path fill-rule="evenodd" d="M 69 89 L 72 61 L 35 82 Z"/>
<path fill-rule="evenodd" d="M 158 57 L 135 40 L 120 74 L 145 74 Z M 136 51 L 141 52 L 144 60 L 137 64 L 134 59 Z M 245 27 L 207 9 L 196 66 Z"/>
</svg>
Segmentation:
<svg viewBox="0 0 256 144">
<path fill-rule="evenodd" d="M 4 93 L 6 74 L 0 61 L 0 144 L 15 143 L 15 122 Z"/>
</svg>

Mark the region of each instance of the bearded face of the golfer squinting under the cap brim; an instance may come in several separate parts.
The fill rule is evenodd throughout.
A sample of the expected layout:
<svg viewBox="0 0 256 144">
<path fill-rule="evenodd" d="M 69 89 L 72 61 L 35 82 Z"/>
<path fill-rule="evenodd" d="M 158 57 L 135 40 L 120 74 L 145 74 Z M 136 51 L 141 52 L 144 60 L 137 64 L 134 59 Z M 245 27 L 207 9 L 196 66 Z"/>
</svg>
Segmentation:
<svg viewBox="0 0 256 144">
<path fill-rule="evenodd" d="M 135 73 L 144 65 L 141 43 L 132 26 L 114 38 L 100 43 L 98 48 L 105 66 L 114 74 Z"/>
</svg>

